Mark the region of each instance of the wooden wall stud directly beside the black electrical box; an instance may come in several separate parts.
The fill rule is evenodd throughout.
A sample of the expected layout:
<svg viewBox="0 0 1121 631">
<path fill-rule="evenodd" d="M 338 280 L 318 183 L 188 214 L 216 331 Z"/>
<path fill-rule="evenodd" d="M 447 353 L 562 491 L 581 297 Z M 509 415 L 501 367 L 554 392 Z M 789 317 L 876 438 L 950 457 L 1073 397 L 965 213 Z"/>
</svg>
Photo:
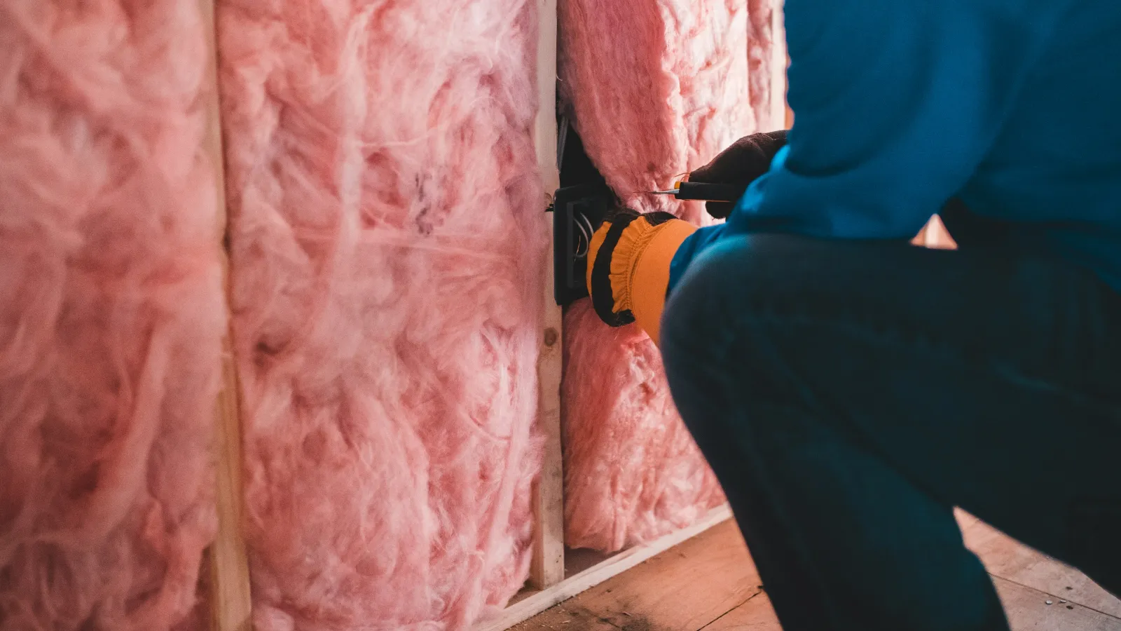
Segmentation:
<svg viewBox="0 0 1121 631">
<path fill-rule="evenodd" d="M 564 579 L 564 469 L 560 459 L 560 373 L 563 362 L 562 311 L 553 299 L 553 221 L 544 211 L 560 185 L 557 164 L 556 67 L 557 3 L 537 0 L 537 118 L 534 144 L 537 168 L 546 199 L 541 200 L 541 221 L 548 226 L 548 247 L 544 260 L 541 296 L 541 345 L 537 360 L 539 383 L 537 423 L 545 433 L 545 460 L 534 487 L 534 556 L 529 582 L 546 588 Z"/>
</svg>

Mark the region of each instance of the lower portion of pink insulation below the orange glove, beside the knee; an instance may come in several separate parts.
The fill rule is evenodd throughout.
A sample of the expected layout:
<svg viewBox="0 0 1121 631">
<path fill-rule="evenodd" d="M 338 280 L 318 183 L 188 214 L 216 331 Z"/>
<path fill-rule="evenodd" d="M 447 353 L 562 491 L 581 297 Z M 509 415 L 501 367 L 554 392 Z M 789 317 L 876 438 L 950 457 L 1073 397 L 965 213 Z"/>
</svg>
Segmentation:
<svg viewBox="0 0 1121 631">
<path fill-rule="evenodd" d="M 565 327 L 566 543 L 618 550 L 723 502 L 650 338 L 637 327 L 600 330 L 586 300 L 569 308 Z"/>
</svg>

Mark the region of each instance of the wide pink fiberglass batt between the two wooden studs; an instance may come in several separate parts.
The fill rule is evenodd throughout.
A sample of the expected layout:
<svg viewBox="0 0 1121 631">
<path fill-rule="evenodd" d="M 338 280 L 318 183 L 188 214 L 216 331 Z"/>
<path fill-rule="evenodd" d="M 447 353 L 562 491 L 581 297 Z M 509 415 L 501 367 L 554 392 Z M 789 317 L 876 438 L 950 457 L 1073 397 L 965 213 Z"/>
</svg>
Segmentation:
<svg viewBox="0 0 1121 631">
<path fill-rule="evenodd" d="M 463 630 L 525 582 L 535 11 L 219 6 L 258 631 Z"/>
</svg>

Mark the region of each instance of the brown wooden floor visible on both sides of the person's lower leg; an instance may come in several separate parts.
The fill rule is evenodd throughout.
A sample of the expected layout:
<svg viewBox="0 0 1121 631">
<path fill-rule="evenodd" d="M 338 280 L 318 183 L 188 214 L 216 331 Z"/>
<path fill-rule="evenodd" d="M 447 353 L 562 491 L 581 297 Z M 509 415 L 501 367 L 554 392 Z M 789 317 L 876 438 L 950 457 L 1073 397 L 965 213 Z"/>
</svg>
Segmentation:
<svg viewBox="0 0 1121 631">
<path fill-rule="evenodd" d="M 993 576 L 1013 631 L 1121 631 L 1121 601 L 1088 578 L 971 515 L 958 522 Z M 779 631 L 761 587 L 726 521 L 513 629 Z"/>
</svg>

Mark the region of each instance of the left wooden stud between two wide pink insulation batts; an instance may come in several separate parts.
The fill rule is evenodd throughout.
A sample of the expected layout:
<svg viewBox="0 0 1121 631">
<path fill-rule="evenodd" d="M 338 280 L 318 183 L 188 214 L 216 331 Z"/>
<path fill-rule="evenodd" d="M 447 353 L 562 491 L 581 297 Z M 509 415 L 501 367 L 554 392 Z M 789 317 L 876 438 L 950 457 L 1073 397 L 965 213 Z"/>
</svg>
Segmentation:
<svg viewBox="0 0 1121 631">
<path fill-rule="evenodd" d="M 225 244 L 228 214 L 225 208 L 225 159 L 222 153 L 222 124 L 217 85 L 217 46 L 214 0 L 200 0 L 200 12 L 206 28 L 210 60 L 206 68 L 205 152 L 214 170 L 217 198 L 219 234 Z M 223 246 L 222 282 L 229 295 L 230 263 Z M 211 629 L 213 631 L 248 631 L 252 628 L 252 602 L 249 587 L 249 560 L 241 537 L 241 420 L 238 373 L 233 360 L 230 333 L 222 340 L 222 390 L 215 405 L 215 502 L 217 537 L 207 549 L 211 586 Z"/>
</svg>

